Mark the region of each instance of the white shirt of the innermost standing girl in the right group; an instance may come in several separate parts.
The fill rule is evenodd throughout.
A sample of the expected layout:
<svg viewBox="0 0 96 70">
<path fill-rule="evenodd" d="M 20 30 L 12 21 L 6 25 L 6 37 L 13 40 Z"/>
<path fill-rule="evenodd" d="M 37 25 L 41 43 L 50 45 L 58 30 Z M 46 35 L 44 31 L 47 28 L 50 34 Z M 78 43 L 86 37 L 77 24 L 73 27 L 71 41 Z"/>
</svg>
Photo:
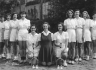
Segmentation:
<svg viewBox="0 0 96 70">
<path fill-rule="evenodd" d="M 66 19 L 64 21 L 64 26 L 66 26 L 67 29 L 76 29 L 76 25 L 74 19 Z"/>
</svg>

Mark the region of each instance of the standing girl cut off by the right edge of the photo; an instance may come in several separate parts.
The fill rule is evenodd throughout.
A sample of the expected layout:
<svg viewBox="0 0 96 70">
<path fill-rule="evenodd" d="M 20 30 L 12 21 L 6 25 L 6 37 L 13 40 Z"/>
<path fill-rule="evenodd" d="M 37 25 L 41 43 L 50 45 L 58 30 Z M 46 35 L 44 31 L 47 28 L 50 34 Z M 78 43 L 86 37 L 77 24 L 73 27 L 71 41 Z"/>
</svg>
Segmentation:
<svg viewBox="0 0 96 70">
<path fill-rule="evenodd" d="M 96 59 L 96 13 L 93 14 L 93 20 L 92 20 L 92 42 L 93 42 L 93 58 Z"/>
</svg>

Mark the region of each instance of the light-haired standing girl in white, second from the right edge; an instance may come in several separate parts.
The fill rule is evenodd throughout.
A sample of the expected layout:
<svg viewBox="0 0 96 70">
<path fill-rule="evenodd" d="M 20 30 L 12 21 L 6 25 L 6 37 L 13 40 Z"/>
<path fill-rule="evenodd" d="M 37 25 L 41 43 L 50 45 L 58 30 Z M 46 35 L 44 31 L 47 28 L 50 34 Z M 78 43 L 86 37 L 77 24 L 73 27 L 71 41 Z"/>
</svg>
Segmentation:
<svg viewBox="0 0 96 70">
<path fill-rule="evenodd" d="M 92 27 L 92 20 L 90 19 L 90 16 L 87 11 L 83 11 L 83 18 L 85 20 L 84 25 L 84 52 L 86 60 L 89 60 L 89 54 L 90 54 L 90 45 L 91 45 L 91 27 Z"/>
</svg>

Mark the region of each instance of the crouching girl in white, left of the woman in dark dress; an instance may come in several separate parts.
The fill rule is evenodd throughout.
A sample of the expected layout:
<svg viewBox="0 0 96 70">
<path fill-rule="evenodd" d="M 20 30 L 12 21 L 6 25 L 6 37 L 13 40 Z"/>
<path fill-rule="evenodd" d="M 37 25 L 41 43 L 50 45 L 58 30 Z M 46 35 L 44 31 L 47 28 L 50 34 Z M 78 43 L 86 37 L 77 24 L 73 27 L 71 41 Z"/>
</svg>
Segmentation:
<svg viewBox="0 0 96 70">
<path fill-rule="evenodd" d="M 30 61 L 30 58 L 34 59 L 34 62 L 35 60 L 38 61 L 37 57 L 38 57 L 38 54 L 39 54 L 39 41 L 38 41 L 38 37 L 39 37 L 39 34 L 36 33 L 36 26 L 35 25 L 32 25 L 31 26 L 31 33 L 29 33 L 27 35 L 27 56 L 28 56 L 28 59 L 29 59 L 29 63 L 32 62 Z M 37 66 L 37 62 L 35 64 L 33 64 L 33 68 L 38 68 Z M 34 67 L 35 65 L 35 67 Z"/>
</svg>

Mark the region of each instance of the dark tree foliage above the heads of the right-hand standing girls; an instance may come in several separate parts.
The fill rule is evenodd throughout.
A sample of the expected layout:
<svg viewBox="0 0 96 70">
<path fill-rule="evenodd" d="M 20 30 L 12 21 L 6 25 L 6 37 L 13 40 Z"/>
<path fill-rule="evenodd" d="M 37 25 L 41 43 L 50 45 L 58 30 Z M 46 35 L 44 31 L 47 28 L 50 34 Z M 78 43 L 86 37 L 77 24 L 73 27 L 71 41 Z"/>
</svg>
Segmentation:
<svg viewBox="0 0 96 70">
<path fill-rule="evenodd" d="M 87 10 L 90 16 L 96 10 L 96 0 L 51 0 L 50 5 L 49 17 L 58 21 L 66 18 L 69 9 L 79 9 L 81 12 Z"/>
</svg>

